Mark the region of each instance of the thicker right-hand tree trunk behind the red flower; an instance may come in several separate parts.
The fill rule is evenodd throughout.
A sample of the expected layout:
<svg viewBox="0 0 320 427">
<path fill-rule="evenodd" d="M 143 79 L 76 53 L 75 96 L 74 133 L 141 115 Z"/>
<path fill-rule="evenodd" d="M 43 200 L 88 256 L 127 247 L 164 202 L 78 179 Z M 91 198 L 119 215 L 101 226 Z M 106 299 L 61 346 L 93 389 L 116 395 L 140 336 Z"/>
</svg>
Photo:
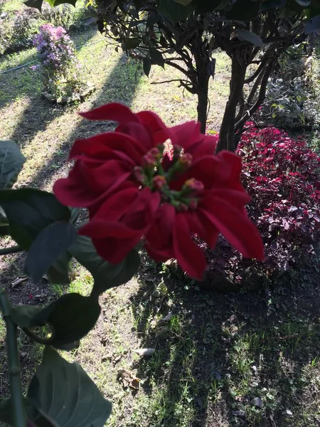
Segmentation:
<svg viewBox="0 0 320 427">
<path fill-rule="evenodd" d="M 223 114 L 223 122 L 220 127 L 219 141 L 217 152 L 223 149 L 235 151 L 235 113 L 237 106 L 242 97 L 243 85 L 245 84 L 245 71 L 247 65 L 245 61 L 239 61 L 238 56 L 234 51 L 232 56 L 232 71 L 230 80 L 230 95 L 227 104 L 225 105 L 225 112 Z"/>
</svg>

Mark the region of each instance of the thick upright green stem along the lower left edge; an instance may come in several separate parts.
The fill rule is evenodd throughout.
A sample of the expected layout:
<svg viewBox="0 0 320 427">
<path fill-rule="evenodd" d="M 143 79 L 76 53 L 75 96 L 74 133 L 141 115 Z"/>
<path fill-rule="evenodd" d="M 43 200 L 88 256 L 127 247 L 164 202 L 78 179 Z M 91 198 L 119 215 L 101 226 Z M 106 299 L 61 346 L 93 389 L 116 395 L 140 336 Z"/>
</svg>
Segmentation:
<svg viewBox="0 0 320 427">
<path fill-rule="evenodd" d="M 0 308 L 4 321 L 6 322 L 6 347 L 8 352 L 11 408 L 14 418 L 14 427 L 26 427 L 27 421 L 23 402 L 16 324 L 11 320 L 11 304 L 3 288 L 0 288 Z"/>
</svg>

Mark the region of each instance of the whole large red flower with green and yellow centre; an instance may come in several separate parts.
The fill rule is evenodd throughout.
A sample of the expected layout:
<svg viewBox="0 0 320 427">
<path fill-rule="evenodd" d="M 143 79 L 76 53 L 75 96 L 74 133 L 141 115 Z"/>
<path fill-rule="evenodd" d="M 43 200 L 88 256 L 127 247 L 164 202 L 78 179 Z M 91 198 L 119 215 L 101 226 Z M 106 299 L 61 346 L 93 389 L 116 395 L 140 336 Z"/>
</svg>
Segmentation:
<svg viewBox="0 0 320 427">
<path fill-rule="evenodd" d="M 76 141 L 75 165 L 54 191 L 63 204 L 89 209 L 80 233 L 102 258 L 119 263 L 144 237 L 152 258 L 176 258 L 201 279 L 206 257 L 192 236 L 213 247 L 218 233 L 246 257 L 263 258 L 244 209 L 250 196 L 240 185 L 240 157 L 215 155 L 216 137 L 202 135 L 195 122 L 168 128 L 153 112 L 134 114 L 115 103 L 82 116 L 119 126 Z"/>
</svg>

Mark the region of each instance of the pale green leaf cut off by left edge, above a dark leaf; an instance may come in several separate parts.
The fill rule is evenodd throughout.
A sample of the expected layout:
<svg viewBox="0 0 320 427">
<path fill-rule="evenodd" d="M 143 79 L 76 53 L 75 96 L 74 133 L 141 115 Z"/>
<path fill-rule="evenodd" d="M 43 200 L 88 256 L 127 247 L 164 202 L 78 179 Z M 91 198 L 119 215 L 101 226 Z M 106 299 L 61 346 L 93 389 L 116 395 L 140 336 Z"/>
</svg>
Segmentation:
<svg viewBox="0 0 320 427">
<path fill-rule="evenodd" d="M 25 161 L 15 142 L 0 141 L 0 189 L 14 185 Z"/>
</svg>

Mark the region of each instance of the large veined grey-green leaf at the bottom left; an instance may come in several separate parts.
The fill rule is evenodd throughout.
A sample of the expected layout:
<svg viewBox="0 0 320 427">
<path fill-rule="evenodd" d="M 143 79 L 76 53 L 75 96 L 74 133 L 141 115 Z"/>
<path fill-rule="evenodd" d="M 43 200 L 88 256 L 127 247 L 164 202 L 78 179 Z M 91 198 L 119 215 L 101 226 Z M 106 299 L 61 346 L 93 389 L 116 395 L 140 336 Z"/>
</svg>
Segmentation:
<svg viewBox="0 0 320 427">
<path fill-rule="evenodd" d="M 28 389 L 28 400 L 35 406 L 43 421 L 58 427 L 103 427 L 111 413 L 111 404 L 78 363 L 69 363 L 50 347 Z M 39 413 L 39 412 L 38 412 Z M 28 417 L 37 427 L 35 411 Z"/>
</svg>

